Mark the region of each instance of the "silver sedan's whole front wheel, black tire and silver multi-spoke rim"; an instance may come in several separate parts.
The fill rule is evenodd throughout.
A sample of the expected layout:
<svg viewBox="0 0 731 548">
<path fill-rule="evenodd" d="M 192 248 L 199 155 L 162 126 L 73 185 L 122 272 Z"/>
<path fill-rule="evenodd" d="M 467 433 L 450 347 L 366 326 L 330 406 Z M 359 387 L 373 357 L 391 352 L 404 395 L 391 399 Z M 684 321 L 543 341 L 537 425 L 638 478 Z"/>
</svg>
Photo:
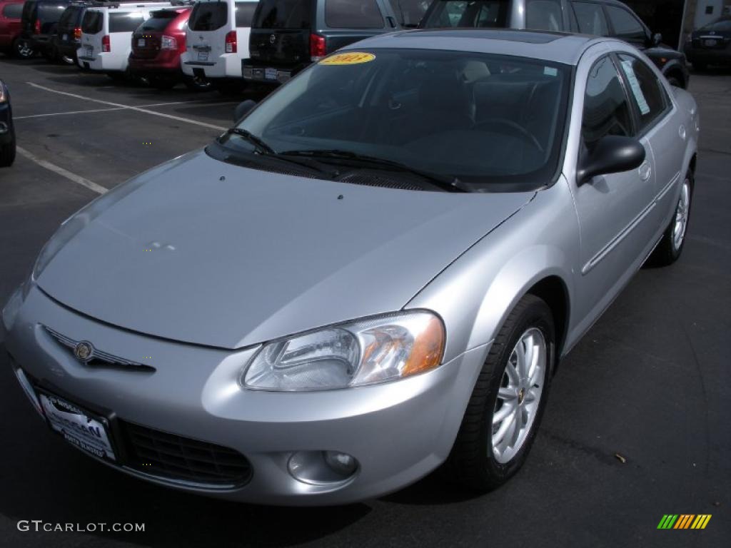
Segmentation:
<svg viewBox="0 0 731 548">
<path fill-rule="evenodd" d="M 545 409 L 555 352 L 550 308 L 534 295 L 524 296 L 482 365 L 444 466 L 450 479 L 485 492 L 520 469 Z"/>
</svg>

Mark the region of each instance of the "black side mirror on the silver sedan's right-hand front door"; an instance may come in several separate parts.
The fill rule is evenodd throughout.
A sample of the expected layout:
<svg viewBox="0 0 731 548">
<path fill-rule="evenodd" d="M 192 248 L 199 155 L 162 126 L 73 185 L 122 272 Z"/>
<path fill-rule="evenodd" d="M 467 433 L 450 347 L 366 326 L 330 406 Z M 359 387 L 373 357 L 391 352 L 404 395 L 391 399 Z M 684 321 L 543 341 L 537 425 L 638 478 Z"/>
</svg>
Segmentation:
<svg viewBox="0 0 731 548">
<path fill-rule="evenodd" d="M 579 163 L 577 184 L 588 183 L 596 175 L 635 170 L 645 161 L 645 147 L 632 137 L 606 135 Z"/>
</svg>

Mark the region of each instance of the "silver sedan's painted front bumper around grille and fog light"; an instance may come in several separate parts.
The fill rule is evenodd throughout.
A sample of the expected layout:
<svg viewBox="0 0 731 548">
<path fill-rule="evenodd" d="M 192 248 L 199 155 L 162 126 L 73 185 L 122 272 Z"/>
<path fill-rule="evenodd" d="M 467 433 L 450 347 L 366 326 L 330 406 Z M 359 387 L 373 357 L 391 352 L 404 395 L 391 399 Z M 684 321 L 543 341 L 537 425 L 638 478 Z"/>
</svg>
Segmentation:
<svg viewBox="0 0 731 548">
<path fill-rule="evenodd" d="M 482 346 L 429 373 L 370 387 L 251 391 L 242 389 L 238 379 L 257 347 L 229 351 L 120 330 L 70 311 L 37 286 L 22 305 L 17 298 L 18 312 L 5 319 L 10 324 L 6 347 L 43 388 L 112 420 L 234 449 L 249 461 L 251 478 L 245 485 L 221 489 L 181 484 L 154 471 L 123 471 L 169 487 L 253 503 L 351 503 L 425 476 L 447 458 L 488 351 Z M 92 341 L 98 349 L 155 371 L 83 365 L 42 326 Z M 289 473 L 292 454 L 321 451 L 352 455 L 357 472 L 338 484 L 305 483 Z"/>
</svg>

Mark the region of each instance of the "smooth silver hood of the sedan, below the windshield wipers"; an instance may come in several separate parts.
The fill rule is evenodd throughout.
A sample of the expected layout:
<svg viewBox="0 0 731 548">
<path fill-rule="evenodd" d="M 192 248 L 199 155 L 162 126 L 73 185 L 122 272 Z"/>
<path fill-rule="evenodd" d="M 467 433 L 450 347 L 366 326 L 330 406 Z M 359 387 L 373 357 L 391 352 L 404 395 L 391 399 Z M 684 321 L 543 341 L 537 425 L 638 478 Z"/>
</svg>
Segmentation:
<svg viewBox="0 0 731 548">
<path fill-rule="evenodd" d="M 198 151 L 102 197 L 37 283 L 110 324 L 235 349 L 402 308 L 533 195 L 356 186 Z"/>
</svg>

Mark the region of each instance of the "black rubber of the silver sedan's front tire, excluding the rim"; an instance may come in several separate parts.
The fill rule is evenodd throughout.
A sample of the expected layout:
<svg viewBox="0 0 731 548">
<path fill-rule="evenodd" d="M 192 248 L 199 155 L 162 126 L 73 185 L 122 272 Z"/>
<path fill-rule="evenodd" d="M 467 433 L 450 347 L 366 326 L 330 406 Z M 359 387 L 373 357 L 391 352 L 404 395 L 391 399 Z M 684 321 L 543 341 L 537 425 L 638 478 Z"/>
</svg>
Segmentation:
<svg viewBox="0 0 731 548">
<path fill-rule="evenodd" d="M 534 419 L 518 452 L 506 463 L 493 454 L 493 414 L 498 391 L 504 385 L 507 361 L 524 333 L 536 328 L 545 340 L 545 370 Z M 525 295 L 510 312 L 482 365 L 457 439 L 444 473 L 452 482 L 474 492 L 487 492 L 507 482 L 523 465 L 539 427 L 553 374 L 556 335 L 553 314 L 548 305 L 534 295 Z M 522 393 L 522 390 L 521 390 Z M 518 400 L 523 403 L 523 396 Z"/>
</svg>

